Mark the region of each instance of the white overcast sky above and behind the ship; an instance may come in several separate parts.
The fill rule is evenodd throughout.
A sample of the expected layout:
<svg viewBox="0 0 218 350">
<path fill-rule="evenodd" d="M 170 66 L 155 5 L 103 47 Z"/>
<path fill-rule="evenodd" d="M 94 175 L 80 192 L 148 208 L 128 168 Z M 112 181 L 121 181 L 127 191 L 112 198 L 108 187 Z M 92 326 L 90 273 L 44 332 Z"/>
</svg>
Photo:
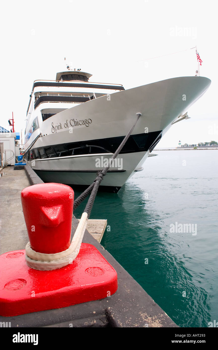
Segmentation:
<svg viewBox="0 0 218 350">
<path fill-rule="evenodd" d="M 26 126 L 36 79 L 55 80 L 67 57 L 90 81 L 125 89 L 158 80 L 200 75 L 209 90 L 188 110 L 191 119 L 171 127 L 159 147 L 218 141 L 217 5 L 208 0 L 20 0 L 1 2 L 1 117 L 15 131 Z M 167 55 L 172 52 L 184 52 Z"/>
</svg>

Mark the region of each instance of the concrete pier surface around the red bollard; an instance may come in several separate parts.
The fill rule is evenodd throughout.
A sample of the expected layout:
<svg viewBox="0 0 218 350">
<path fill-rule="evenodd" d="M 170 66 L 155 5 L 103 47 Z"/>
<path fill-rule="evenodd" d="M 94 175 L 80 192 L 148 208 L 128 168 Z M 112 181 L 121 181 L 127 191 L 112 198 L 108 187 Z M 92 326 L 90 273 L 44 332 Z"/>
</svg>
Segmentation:
<svg viewBox="0 0 218 350">
<path fill-rule="evenodd" d="M 27 229 L 20 200 L 21 190 L 42 180 L 29 166 L 14 171 L 2 169 L 0 177 L 0 253 L 24 249 Z M 78 220 L 72 218 L 71 238 Z M 118 274 L 118 290 L 105 299 L 65 308 L 2 317 L 11 327 L 178 327 L 124 268 L 86 230 L 84 243 L 95 246 Z M 1 268 L 1 267 L 0 267 Z"/>
</svg>

